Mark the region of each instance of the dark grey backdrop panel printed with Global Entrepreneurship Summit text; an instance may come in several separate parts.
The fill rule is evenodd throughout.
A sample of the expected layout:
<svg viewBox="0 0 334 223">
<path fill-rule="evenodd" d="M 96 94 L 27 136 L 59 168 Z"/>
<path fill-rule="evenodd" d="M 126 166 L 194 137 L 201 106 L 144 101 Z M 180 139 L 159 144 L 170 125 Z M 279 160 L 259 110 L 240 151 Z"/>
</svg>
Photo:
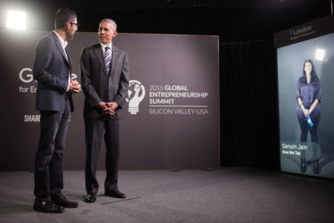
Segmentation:
<svg viewBox="0 0 334 223">
<path fill-rule="evenodd" d="M 31 78 L 31 69 L 37 39 L 47 33 L 0 31 L 2 171 L 34 167 L 39 112 L 35 111 L 37 83 Z M 81 50 L 95 43 L 96 33 L 80 32 L 69 42 L 72 78 L 80 81 Z M 128 102 L 134 104 L 126 103 L 123 111 L 120 168 L 218 168 L 218 37 L 119 34 L 114 45 L 129 56 Z M 83 102 L 82 93 L 74 95 L 65 169 L 85 167 Z M 135 114 L 128 111 L 133 106 Z M 102 143 L 99 169 L 104 169 L 104 153 Z"/>
</svg>

